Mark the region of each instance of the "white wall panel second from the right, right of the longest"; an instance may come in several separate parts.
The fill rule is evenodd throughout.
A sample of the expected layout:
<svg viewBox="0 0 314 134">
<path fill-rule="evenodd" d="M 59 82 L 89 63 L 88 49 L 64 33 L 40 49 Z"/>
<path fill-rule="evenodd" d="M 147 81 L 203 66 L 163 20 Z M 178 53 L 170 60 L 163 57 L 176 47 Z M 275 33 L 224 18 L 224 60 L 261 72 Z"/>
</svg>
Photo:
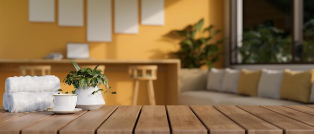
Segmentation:
<svg viewBox="0 0 314 134">
<path fill-rule="evenodd" d="M 138 0 L 114 0 L 114 32 L 138 33 Z"/>
</svg>

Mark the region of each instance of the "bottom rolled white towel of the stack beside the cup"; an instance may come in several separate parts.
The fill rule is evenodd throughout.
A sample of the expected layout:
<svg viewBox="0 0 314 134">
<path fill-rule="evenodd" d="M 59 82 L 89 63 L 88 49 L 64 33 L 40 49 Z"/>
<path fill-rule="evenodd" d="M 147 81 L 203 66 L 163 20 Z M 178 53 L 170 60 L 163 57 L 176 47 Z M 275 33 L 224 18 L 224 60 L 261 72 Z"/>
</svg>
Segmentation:
<svg viewBox="0 0 314 134">
<path fill-rule="evenodd" d="M 56 91 L 4 93 L 4 108 L 10 112 L 29 112 L 54 107 Z"/>
</svg>

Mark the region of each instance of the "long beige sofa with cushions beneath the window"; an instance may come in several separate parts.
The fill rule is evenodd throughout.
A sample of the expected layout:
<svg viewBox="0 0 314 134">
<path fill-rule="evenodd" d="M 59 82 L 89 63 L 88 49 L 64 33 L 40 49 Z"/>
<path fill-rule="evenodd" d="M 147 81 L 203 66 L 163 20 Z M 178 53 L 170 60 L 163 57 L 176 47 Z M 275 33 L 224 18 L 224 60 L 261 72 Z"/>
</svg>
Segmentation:
<svg viewBox="0 0 314 134">
<path fill-rule="evenodd" d="M 243 95 L 245 93 L 239 92 L 239 82 L 243 84 L 243 72 L 245 69 L 212 69 L 210 71 L 206 69 L 181 69 L 180 73 L 180 91 L 179 91 L 179 104 L 185 105 L 295 105 L 314 102 L 314 87 L 313 84 L 307 83 L 304 88 L 306 91 L 299 94 L 303 94 L 308 99 L 308 102 L 303 102 L 303 97 L 296 96 L 297 98 L 284 96 L 284 86 L 291 86 L 290 83 L 282 86 L 282 83 L 286 83 L 287 78 L 283 78 L 285 71 L 289 70 L 268 70 L 261 69 L 258 77 L 258 85 L 256 87 L 257 94 L 255 95 Z M 255 71 L 255 70 L 249 70 Z M 257 70 L 256 70 L 257 71 Z M 268 73 L 271 72 L 271 73 Z M 272 75 L 272 72 L 276 72 Z M 278 72 L 278 73 L 277 73 Z M 312 72 L 312 71 L 310 71 Z M 302 73 L 302 71 L 291 71 L 291 76 L 297 76 L 294 74 Z M 269 74 L 269 75 L 268 75 Z M 284 76 L 290 77 L 287 73 Z M 242 77 L 241 77 L 242 75 Z M 301 76 L 302 78 L 305 76 Z M 240 78 L 242 78 L 240 80 Z M 296 78 L 297 77 L 290 77 Z M 302 79 L 301 78 L 301 79 Z M 308 78 L 308 81 L 312 80 L 312 76 Z M 285 79 L 285 82 L 283 82 Z M 248 80 L 248 79 L 246 79 Z M 250 81 L 250 79 L 248 80 Z M 295 80 L 297 81 L 297 80 Z M 304 80 L 303 80 L 304 81 Z M 306 81 L 306 80 L 305 80 Z M 268 83 L 267 83 L 268 82 Z M 312 81 L 311 81 L 312 82 Z M 291 83 L 293 84 L 293 83 Z M 247 83 L 249 85 L 249 83 Z M 301 86 L 301 85 L 300 85 Z M 287 91 L 298 94 L 300 89 L 295 88 L 296 92 Z M 245 88 L 245 87 L 244 87 Z M 263 89 L 264 88 L 264 89 Z M 289 88 L 289 87 L 288 87 Z M 308 91 L 307 88 L 309 88 Z M 307 94 L 307 95 L 306 95 Z M 294 96 L 295 97 L 295 96 Z"/>
</svg>

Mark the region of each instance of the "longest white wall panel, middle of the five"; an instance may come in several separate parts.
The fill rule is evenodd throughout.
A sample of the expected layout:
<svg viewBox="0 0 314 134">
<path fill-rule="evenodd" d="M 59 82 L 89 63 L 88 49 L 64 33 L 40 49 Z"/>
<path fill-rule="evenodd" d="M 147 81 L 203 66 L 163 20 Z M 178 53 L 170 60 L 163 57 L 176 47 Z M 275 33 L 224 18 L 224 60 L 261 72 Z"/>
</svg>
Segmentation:
<svg viewBox="0 0 314 134">
<path fill-rule="evenodd" d="M 111 0 L 87 0 L 87 41 L 111 41 Z"/>
</svg>

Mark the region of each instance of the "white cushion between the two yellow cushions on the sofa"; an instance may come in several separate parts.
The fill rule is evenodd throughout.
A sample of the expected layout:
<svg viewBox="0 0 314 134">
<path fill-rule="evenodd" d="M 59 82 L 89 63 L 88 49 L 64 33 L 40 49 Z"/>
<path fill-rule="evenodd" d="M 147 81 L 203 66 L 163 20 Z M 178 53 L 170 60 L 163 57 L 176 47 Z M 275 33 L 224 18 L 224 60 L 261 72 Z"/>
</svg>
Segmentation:
<svg viewBox="0 0 314 134">
<path fill-rule="evenodd" d="M 283 70 L 262 69 L 257 95 L 260 97 L 280 98 Z"/>
</svg>

